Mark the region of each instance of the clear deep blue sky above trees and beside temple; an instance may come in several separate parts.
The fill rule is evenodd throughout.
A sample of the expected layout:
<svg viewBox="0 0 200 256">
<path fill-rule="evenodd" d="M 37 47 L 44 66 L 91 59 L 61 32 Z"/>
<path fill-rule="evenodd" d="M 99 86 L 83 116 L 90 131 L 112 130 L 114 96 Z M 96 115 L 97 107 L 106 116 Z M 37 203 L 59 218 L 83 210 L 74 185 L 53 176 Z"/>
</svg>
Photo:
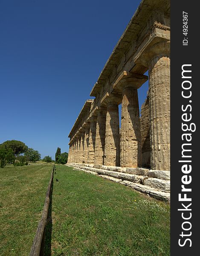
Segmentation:
<svg viewBox="0 0 200 256">
<path fill-rule="evenodd" d="M 140 0 L 0 1 L 0 143 L 53 159 Z M 139 104 L 147 84 L 139 89 Z"/>
</svg>

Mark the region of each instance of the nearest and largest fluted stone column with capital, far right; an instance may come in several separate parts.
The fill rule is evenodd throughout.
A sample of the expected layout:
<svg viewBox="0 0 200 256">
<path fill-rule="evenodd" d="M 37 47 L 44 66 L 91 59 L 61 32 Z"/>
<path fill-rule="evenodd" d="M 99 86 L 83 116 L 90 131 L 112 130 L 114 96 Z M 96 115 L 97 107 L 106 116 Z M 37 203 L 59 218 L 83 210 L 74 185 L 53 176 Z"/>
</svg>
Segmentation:
<svg viewBox="0 0 200 256">
<path fill-rule="evenodd" d="M 142 52 L 149 68 L 151 168 L 170 170 L 170 42 L 161 41 Z"/>
</svg>

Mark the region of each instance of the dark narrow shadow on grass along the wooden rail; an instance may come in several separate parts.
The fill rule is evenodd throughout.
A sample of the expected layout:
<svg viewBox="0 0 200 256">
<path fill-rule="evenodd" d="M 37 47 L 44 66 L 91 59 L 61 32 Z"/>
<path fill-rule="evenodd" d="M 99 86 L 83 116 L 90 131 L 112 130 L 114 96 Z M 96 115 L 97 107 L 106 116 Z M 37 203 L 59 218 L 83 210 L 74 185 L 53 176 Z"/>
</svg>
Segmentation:
<svg viewBox="0 0 200 256">
<path fill-rule="evenodd" d="M 44 256 L 51 255 L 51 244 L 52 244 L 52 195 L 53 195 L 53 180 L 52 188 L 49 195 L 49 209 L 48 209 L 48 218 L 51 218 L 49 223 L 45 227 L 45 244 L 44 244 Z M 48 219 L 47 218 L 47 219 Z"/>
</svg>

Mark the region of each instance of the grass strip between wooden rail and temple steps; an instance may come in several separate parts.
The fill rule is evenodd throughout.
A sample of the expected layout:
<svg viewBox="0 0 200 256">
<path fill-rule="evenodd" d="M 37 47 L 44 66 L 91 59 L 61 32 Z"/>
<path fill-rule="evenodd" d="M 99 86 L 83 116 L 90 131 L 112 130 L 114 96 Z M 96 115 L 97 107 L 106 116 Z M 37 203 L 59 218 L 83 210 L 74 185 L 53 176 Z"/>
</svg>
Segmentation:
<svg viewBox="0 0 200 256">
<path fill-rule="evenodd" d="M 52 255 L 170 255 L 168 204 L 72 167 L 56 169 Z"/>
</svg>

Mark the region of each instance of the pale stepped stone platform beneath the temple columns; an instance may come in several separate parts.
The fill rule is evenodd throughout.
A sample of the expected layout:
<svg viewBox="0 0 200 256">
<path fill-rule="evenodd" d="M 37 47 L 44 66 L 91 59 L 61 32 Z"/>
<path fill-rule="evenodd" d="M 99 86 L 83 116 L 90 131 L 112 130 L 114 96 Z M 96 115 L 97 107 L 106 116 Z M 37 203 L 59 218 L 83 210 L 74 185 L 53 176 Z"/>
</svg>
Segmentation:
<svg viewBox="0 0 200 256">
<path fill-rule="evenodd" d="M 145 168 L 127 168 L 116 166 L 93 166 L 84 163 L 67 163 L 93 175 L 130 186 L 139 192 L 170 203 L 170 172 Z"/>
</svg>

